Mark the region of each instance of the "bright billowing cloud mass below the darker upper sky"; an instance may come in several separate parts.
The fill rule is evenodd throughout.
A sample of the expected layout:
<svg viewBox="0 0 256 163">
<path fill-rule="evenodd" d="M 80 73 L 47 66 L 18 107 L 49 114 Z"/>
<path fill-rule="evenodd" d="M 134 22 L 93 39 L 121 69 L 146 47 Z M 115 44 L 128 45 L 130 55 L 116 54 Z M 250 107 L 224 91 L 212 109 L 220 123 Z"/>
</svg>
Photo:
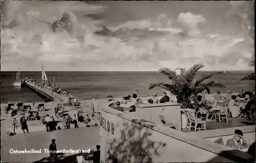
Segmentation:
<svg viewBox="0 0 256 163">
<path fill-rule="evenodd" d="M 73 8 L 78 11 L 79 7 Z M 115 35 L 96 36 L 99 21 L 81 18 L 63 8 L 55 10 L 51 17 L 30 10 L 17 16 L 19 26 L 1 31 L 1 62 L 6 69 L 18 60 L 26 63 L 24 59 L 30 59 L 48 63 L 52 70 L 155 71 L 198 62 L 204 62 L 206 68 L 228 70 L 245 68 L 252 57 L 251 47 L 241 36 L 202 33 L 200 23 L 207 23 L 203 15 L 188 12 L 170 19 L 160 14 L 111 25 Z M 67 25 L 65 30 L 52 32 L 51 23 L 61 19 Z M 234 48 L 237 45 L 239 50 Z"/>
</svg>

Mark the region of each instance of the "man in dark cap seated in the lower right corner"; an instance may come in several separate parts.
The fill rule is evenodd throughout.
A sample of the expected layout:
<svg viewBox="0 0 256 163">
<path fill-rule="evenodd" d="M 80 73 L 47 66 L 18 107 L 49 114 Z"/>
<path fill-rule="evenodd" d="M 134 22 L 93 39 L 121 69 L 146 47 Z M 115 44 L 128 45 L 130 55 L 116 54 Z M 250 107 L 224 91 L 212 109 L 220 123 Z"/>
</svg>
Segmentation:
<svg viewBox="0 0 256 163">
<path fill-rule="evenodd" d="M 243 143 L 241 142 L 241 139 Z M 240 151 L 246 149 L 248 145 L 243 137 L 243 131 L 241 131 L 240 129 L 236 129 L 234 131 L 234 137 L 227 140 L 226 146 Z"/>
</svg>

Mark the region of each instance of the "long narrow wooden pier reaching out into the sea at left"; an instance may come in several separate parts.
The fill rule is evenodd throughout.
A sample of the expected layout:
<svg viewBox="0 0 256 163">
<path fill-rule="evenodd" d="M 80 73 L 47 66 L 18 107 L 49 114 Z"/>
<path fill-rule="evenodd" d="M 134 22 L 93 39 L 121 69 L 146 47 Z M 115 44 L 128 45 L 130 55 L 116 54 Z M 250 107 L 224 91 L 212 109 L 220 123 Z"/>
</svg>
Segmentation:
<svg viewBox="0 0 256 163">
<path fill-rule="evenodd" d="M 59 102 L 68 102 L 69 97 L 72 95 L 64 96 L 61 94 L 58 94 L 56 92 L 52 92 L 49 89 L 41 88 L 31 82 L 26 81 L 26 85 L 28 88 L 30 88 L 32 91 L 36 92 L 37 94 L 45 97 L 49 101 L 59 101 Z"/>
</svg>

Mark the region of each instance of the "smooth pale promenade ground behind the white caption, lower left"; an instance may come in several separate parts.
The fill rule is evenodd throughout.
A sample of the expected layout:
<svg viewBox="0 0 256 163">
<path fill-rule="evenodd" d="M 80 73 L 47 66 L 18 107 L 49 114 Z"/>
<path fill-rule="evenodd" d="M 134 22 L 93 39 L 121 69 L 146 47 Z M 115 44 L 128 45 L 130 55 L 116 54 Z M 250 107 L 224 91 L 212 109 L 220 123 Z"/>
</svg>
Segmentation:
<svg viewBox="0 0 256 163">
<path fill-rule="evenodd" d="M 80 127 L 53 132 L 37 131 L 32 133 L 20 133 L 12 137 L 4 137 L 1 135 L 1 161 L 47 162 L 49 153 L 45 153 L 44 149 L 49 149 L 52 139 L 56 140 L 57 150 L 90 149 L 93 151 L 96 150 L 96 145 L 100 144 L 99 127 Z M 41 149 L 41 153 L 11 154 L 10 149 Z M 67 158 L 67 156 L 74 156 L 69 158 L 69 160 L 62 160 L 60 162 L 76 162 L 76 154 L 77 153 L 65 153 L 61 157 Z"/>
</svg>

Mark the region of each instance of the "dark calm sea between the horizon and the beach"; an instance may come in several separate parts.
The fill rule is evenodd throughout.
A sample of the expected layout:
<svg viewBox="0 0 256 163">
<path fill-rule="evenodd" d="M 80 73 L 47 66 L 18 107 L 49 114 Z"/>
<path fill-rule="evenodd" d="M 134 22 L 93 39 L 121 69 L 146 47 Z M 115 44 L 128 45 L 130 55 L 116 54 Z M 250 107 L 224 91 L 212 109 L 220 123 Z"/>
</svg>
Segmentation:
<svg viewBox="0 0 256 163">
<path fill-rule="evenodd" d="M 195 78 L 199 78 L 203 74 L 216 72 L 200 71 Z M 228 71 L 227 73 L 216 73 L 211 77 L 212 80 L 224 84 L 227 88 L 211 88 L 210 93 L 220 90 L 221 93 L 226 93 L 227 90 L 239 92 L 239 89 L 246 91 L 251 88 L 254 91 L 254 81 L 247 80 L 239 82 L 239 79 L 250 71 Z M 37 81 L 41 80 L 41 71 L 22 71 L 21 78 L 34 78 Z M 63 89 L 66 89 L 70 94 L 77 99 L 102 99 L 108 95 L 114 97 L 124 97 L 136 93 L 138 97 L 151 96 L 157 93 L 159 96 L 164 92 L 161 88 L 149 90 L 151 83 L 169 82 L 166 75 L 158 72 L 89 72 L 89 71 L 48 71 L 46 72 L 48 79 Z M 16 72 L 1 71 L 1 103 L 23 101 L 23 102 L 39 102 L 45 101 L 44 98 L 32 92 L 29 88 L 15 88 L 13 81 L 15 80 Z M 135 89 L 138 89 L 135 92 Z"/>
</svg>

